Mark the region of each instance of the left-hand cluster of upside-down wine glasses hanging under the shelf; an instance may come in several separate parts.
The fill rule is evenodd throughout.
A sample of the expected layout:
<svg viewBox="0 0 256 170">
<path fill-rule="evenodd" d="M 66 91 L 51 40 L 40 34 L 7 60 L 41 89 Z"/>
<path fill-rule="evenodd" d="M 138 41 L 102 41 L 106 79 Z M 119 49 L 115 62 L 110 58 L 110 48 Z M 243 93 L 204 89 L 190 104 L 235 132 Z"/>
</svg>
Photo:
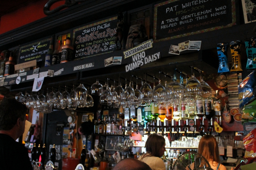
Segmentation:
<svg viewBox="0 0 256 170">
<path fill-rule="evenodd" d="M 42 113 L 51 113 L 52 108 L 55 109 L 76 109 L 76 107 L 92 107 L 93 99 L 92 96 L 87 93 L 87 89 L 83 84 L 80 84 L 76 89 L 68 93 L 67 87 L 65 86 L 65 91 L 59 91 L 54 93 L 52 88 L 52 92 L 49 93 L 47 88 L 46 96 L 44 96 L 44 92 L 42 91 L 40 95 L 37 95 L 36 92 L 32 92 L 29 95 L 27 92 L 25 96 L 20 92 L 16 94 L 16 100 L 23 102 L 26 104 L 28 108 L 33 108 L 38 112 Z"/>
</svg>

